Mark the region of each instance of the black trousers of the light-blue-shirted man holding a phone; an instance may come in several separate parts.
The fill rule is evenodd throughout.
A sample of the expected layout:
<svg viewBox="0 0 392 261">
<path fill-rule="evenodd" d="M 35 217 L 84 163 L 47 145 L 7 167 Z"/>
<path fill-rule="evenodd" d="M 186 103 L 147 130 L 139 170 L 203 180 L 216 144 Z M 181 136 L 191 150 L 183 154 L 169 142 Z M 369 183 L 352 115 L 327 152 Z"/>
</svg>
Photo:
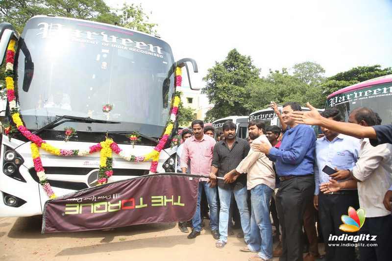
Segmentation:
<svg viewBox="0 0 392 261">
<path fill-rule="evenodd" d="M 352 191 L 351 194 L 330 195 L 323 194 L 321 191 L 319 193 L 319 219 L 324 237 L 326 261 L 355 261 L 355 248 L 353 246 L 336 247 L 328 245 L 328 243 L 340 243 L 336 241 L 329 242 L 328 238 L 330 235 L 356 235 L 356 233 L 347 233 L 339 229 L 339 226 L 343 224 L 341 217 L 347 214 L 350 206 L 355 210 L 359 208 L 357 190 Z"/>
</svg>

